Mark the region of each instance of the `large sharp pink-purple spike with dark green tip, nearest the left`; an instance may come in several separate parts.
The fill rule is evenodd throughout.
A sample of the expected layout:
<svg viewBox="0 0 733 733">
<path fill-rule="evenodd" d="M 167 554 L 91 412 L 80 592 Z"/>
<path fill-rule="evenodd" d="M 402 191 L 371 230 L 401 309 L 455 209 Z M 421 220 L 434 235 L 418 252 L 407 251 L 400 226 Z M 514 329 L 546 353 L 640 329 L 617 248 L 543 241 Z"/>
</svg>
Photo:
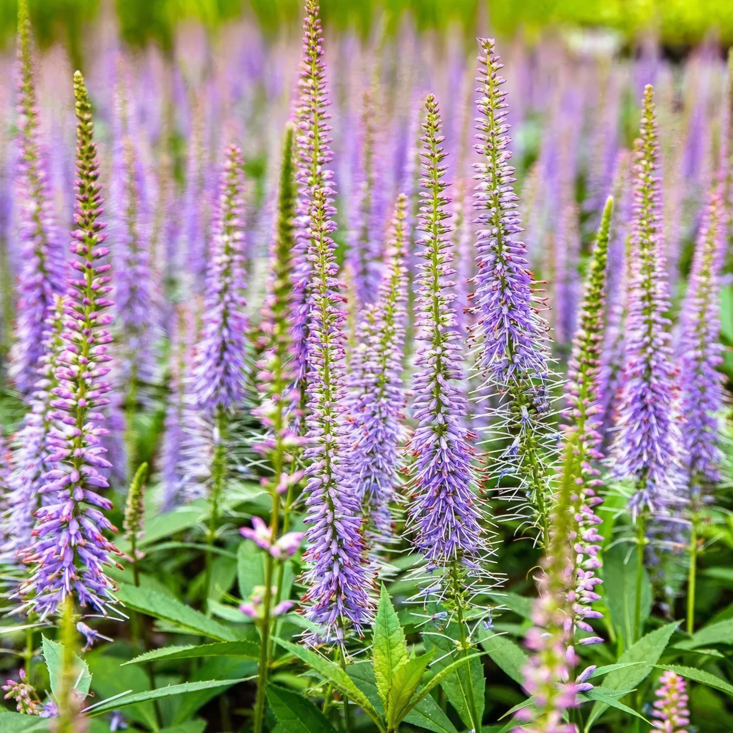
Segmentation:
<svg viewBox="0 0 733 733">
<path fill-rule="evenodd" d="M 110 555 L 119 550 L 102 534 L 115 531 L 103 514 L 112 508 L 111 501 L 98 490 L 108 487 L 100 469 L 110 468 L 100 440 L 104 416 L 100 408 L 108 404 L 104 395 L 109 383 L 106 363 L 111 336 L 107 326 L 112 305 L 106 295 L 111 290 L 108 271 L 111 265 L 99 260 L 109 251 L 102 246 L 106 238 L 99 221 L 102 213 L 99 161 L 93 139 L 92 106 L 80 72 L 74 73 L 76 97 L 76 206 L 71 252 L 78 279 L 70 280 L 65 331 L 66 350 L 59 356 L 56 372 L 58 399 L 52 402 L 59 427 L 52 439 L 55 452 L 51 460 L 58 466 L 45 474 L 47 483 L 40 489 L 48 503 L 36 512 L 35 542 L 22 553 L 32 565 L 31 577 L 21 583 L 26 603 L 41 618 L 54 614 L 65 598 L 73 595 L 82 606 L 91 605 L 107 613 L 116 603 L 114 583 L 104 572 L 111 564 Z"/>
</svg>

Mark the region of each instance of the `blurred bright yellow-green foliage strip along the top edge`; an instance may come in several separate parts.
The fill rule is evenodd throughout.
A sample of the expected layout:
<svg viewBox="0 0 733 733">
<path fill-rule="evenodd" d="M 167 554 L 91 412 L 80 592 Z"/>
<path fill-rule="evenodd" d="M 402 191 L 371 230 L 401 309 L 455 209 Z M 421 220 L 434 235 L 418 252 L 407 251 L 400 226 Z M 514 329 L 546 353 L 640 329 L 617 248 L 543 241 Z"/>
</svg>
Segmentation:
<svg viewBox="0 0 733 733">
<path fill-rule="evenodd" d="M 202 23 L 212 34 L 237 18 L 257 18 L 265 32 L 298 29 L 301 0 L 29 0 L 38 43 L 65 43 L 79 60 L 84 24 L 114 12 L 130 45 L 173 45 L 180 23 Z M 529 40 L 543 29 L 611 29 L 633 40 L 652 32 L 672 54 L 704 37 L 733 43 L 733 0 L 322 0 L 326 26 L 369 34 L 377 23 L 396 28 L 410 15 L 421 31 L 476 29 L 499 37 L 522 32 Z M 0 0 L 0 42 L 12 43 L 16 0 Z"/>
</svg>

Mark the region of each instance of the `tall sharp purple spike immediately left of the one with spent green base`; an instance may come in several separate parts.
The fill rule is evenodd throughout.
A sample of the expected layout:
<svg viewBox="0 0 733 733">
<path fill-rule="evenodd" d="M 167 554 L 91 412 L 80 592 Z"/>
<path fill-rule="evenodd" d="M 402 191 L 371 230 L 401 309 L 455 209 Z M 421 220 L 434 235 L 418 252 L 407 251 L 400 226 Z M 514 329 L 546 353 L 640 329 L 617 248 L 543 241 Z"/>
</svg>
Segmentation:
<svg viewBox="0 0 733 733">
<path fill-rule="evenodd" d="M 471 461 L 475 437 L 465 427 L 467 406 L 459 385 L 463 382 L 460 332 L 452 302 L 453 246 L 444 222 L 451 216 L 443 195 L 446 166 L 441 147 L 441 116 L 433 95 L 425 101 L 423 177 L 419 229 L 421 281 L 416 305 L 419 328 L 416 375 L 413 378 L 413 419 L 417 427 L 408 450 L 414 457 L 410 472 L 409 523 L 413 543 L 428 567 L 454 561 L 475 567 L 484 544 L 479 522 Z"/>
</svg>

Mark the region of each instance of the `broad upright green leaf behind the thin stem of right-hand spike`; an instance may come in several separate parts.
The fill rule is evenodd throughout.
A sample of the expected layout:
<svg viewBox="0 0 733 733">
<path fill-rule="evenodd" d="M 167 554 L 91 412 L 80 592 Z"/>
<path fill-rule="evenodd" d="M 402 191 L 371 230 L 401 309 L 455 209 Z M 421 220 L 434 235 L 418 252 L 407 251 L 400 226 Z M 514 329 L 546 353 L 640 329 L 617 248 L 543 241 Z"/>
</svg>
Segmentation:
<svg viewBox="0 0 733 733">
<path fill-rule="evenodd" d="M 636 553 L 627 561 L 627 548 L 616 545 L 603 553 L 603 600 L 616 633 L 627 648 L 634 638 L 634 609 L 636 605 Z M 641 622 L 652 610 L 652 583 L 644 570 L 641 579 Z"/>
</svg>

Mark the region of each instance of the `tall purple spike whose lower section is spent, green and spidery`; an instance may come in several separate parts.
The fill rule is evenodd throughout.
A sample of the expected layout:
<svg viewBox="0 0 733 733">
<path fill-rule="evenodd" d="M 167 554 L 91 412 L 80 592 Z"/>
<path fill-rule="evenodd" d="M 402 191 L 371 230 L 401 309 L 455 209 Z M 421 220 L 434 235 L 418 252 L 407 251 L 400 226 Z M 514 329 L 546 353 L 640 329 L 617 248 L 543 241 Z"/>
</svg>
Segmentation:
<svg viewBox="0 0 733 733">
<path fill-rule="evenodd" d="M 474 208 L 479 225 L 476 242 L 477 273 L 471 296 L 476 313 L 473 333 L 479 351 L 477 369 L 484 379 L 487 399 L 498 395 L 498 422 L 509 437 L 509 447 L 495 462 L 497 478 L 509 474 L 520 481 L 520 492 L 531 503 L 533 522 L 547 537 L 550 508 L 546 460 L 540 452 L 550 449 L 552 438 L 544 435 L 543 413 L 549 410 L 547 389 L 548 325 L 534 301 L 536 283 L 527 260 L 527 248 L 514 239 L 522 229 L 517 213 L 517 196 L 512 184 L 512 152 L 507 146 L 506 92 L 498 74 L 502 65 L 494 53 L 494 41 L 479 38 L 480 116 L 476 118 L 477 180 Z M 499 436 L 504 438 L 504 435 Z M 513 497 L 512 497 L 513 498 Z"/>
</svg>

